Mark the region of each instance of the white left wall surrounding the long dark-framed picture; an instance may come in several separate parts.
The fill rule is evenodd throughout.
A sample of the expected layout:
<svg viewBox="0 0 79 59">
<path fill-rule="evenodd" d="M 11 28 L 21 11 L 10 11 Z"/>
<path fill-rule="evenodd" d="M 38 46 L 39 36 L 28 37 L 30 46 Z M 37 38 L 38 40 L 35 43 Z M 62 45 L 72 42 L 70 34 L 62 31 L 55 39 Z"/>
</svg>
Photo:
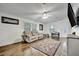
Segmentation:
<svg viewBox="0 0 79 59">
<path fill-rule="evenodd" d="M 1 19 L 1 16 L 19 19 L 19 25 L 4 24 L 4 23 L 1 23 L 1 20 L 0 20 L 0 46 L 22 41 L 21 35 L 24 30 L 23 22 L 31 22 L 31 23 L 37 24 L 38 32 L 42 32 L 42 31 L 39 31 L 38 22 L 30 21 L 27 19 L 19 18 L 14 15 L 0 12 L 0 19 Z"/>
</svg>

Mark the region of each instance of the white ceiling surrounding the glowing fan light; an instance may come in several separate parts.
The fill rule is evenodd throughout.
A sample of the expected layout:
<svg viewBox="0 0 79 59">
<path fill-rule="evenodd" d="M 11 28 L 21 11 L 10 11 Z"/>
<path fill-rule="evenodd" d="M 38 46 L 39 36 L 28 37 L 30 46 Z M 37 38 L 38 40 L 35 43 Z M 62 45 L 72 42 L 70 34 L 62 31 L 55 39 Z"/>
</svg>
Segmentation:
<svg viewBox="0 0 79 59">
<path fill-rule="evenodd" d="M 47 19 L 41 18 L 44 10 L 50 15 Z M 42 23 L 64 19 L 66 10 L 66 3 L 0 3 L 0 12 Z"/>
</svg>

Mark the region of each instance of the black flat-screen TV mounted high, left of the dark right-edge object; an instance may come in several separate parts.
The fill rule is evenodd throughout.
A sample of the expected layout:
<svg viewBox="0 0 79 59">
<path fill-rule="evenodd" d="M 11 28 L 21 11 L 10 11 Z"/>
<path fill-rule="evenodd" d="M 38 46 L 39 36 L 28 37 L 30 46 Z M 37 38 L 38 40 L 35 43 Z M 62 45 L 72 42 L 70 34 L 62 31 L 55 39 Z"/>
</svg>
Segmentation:
<svg viewBox="0 0 79 59">
<path fill-rule="evenodd" d="M 71 24 L 71 27 L 76 25 L 76 17 L 75 14 L 73 12 L 72 6 L 70 3 L 68 3 L 68 18 Z"/>
</svg>

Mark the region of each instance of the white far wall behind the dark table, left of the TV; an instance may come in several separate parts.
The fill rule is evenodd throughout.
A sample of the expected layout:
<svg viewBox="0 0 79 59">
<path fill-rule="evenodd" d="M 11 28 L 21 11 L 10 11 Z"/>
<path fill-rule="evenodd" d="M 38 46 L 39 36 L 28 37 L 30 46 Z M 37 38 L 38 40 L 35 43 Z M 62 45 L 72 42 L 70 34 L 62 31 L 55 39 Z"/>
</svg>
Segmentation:
<svg viewBox="0 0 79 59">
<path fill-rule="evenodd" d="M 46 24 L 46 27 L 44 28 L 45 29 L 44 33 L 50 34 L 49 28 L 51 27 L 51 25 L 54 26 L 54 29 L 57 32 L 60 32 L 61 37 L 66 37 L 67 34 L 71 33 L 71 26 L 67 18 L 61 21 L 56 21 L 56 22 Z"/>
</svg>

